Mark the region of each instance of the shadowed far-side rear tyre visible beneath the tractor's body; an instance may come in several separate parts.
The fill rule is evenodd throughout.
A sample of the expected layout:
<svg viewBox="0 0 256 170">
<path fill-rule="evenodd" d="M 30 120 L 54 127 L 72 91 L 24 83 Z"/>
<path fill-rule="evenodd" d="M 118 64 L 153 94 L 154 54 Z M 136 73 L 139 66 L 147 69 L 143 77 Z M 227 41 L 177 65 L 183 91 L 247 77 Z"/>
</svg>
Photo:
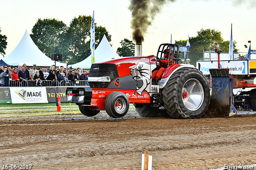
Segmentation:
<svg viewBox="0 0 256 170">
<path fill-rule="evenodd" d="M 135 110 L 141 117 L 168 117 L 165 110 L 151 107 L 150 103 L 133 103 Z"/>
</svg>

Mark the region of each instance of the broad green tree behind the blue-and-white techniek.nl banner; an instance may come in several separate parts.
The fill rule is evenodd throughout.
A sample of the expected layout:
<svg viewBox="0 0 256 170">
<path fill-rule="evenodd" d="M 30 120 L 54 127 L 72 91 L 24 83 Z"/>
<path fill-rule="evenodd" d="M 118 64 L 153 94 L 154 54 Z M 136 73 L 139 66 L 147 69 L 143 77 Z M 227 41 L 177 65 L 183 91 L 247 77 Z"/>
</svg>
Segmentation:
<svg viewBox="0 0 256 170">
<path fill-rule="evenodd" d="M 187 53 L 190 58 L 190 63 L 196 65 L 196 61 L 200 61 L 203 59 L 203 50 L 204 51 L 214 51 L 215 47 L 220 47 L 222 53 L 228 53 L 229 51 L 229 40 L 224 41 L 221 36 L 221 32 L 215 29 L 201 29 L 197 32 L 197 36 L 190 37 L 189 42 L 191 47 Z M 187 40 L 175 41 L 176 44 L 180 46 L 186 46 Z M 236 41 L 233 42 L 234 52 L 238 50 L 236 47 Z M 183 53 L 180 54 L 182 56 Z M 183 54 L 184 56 L 184 54 Z"/>
</svg>

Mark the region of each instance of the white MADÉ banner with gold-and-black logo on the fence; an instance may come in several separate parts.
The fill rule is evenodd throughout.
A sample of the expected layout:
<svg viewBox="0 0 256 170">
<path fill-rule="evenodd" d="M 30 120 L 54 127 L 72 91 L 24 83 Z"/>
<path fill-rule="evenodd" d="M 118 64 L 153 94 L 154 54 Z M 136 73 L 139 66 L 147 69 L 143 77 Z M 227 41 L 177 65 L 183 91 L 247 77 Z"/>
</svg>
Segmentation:
<svg viewBox="0 0 256 170">
<path fill-rule="evenodd" d="M 12 103 L 48 103 L 45 87 L 10 87 Z"/>
</svg>

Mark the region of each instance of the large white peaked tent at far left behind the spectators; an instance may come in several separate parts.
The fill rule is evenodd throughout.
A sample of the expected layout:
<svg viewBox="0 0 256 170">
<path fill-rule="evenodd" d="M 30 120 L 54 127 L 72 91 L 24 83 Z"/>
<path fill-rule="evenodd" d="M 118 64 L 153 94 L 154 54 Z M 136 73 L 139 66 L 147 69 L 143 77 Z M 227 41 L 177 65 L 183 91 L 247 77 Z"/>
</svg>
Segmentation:
<svg viewBox="0 0 256 170">
<path fill-rule="evenodd" d="M 50 66 L 55 63 L 55 61 L 40 51 L 31 39 L 27 30 L 14 50 L 6 55 L 6 57 L 2 58 L 2 60 L 8 65 L 23 65 L 25 63 L 28 66 L 32 66 L 33 64 L 36 64 L 37 66 Z M 56 66 L 61 65 L 63 67 L 67 66 L 66 63 L 56 61 Z"/>
</svg>

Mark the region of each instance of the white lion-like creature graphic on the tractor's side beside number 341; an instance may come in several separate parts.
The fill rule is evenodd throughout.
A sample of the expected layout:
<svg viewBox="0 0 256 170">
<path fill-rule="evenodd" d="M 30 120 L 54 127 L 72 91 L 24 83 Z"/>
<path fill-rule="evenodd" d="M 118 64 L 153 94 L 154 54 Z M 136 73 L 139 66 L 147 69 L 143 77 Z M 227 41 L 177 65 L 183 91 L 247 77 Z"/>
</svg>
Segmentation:
<svg viewBox="0 0 256 170">
<path fill-rule="evenodd" d="M 140 61 L 134 67 L 130 67 L 130 73 L 135 81 L 142 80 L 142 86 L 136 86 L 136 92 L 142 96 L 142 91 L 150 84 L 150 65 Z"/>
</svg>

